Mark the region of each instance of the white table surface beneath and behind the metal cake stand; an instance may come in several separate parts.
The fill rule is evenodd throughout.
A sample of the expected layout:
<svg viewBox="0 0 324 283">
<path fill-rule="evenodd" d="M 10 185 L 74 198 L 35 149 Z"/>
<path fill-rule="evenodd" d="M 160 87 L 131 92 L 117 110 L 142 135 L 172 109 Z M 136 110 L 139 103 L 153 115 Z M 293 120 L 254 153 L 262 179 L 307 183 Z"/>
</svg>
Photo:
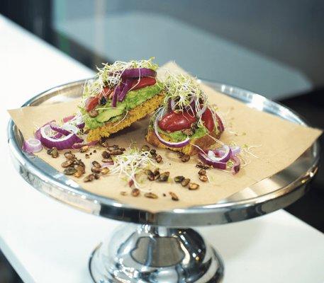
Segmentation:
<svg viewBox="0 0 324 283">
<path fill-rule="evenodd" d="M 0 16 L 0 248 L 27 283 L 91 282 L 91 250 L 118 225 L 41 195 L 11 165 L 6 109 L 91 70 Z M 199 229 L 223 256 L 224 283 L 324 282 L 324 235 L 279 210 Z"/>
</svg>

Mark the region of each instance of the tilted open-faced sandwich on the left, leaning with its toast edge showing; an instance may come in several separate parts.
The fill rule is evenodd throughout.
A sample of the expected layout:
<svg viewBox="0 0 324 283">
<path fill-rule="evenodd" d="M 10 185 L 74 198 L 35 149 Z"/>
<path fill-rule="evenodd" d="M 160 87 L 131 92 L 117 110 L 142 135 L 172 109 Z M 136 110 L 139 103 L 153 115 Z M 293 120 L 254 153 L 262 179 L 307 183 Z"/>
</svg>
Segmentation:
<svg viewBox="0 0 324 283">
<path fill-rule="evenodd" d="M 117 61 L 99 69 L 96 78 L 84 86 L 79 105 L 88 141 L 108 137 L 161 105 L 164 95 L 156 70 L 152 58 Z"/>
</svg>

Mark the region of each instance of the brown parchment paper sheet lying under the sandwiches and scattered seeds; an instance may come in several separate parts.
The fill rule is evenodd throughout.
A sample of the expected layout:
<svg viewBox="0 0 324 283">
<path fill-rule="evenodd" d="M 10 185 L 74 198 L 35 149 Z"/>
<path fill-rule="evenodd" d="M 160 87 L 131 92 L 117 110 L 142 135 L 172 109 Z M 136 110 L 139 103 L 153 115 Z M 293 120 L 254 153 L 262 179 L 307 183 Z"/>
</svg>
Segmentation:
<svg viewBox="0 0 324 283">
<path fill-rule="evenodd" d="M 159 76 L 164 76 L 166 69 L 183 71 L 173 62 L 169 62 L 160 69 Z M 82 178 L 71 177 L 72 180 L 84 187 L 85 190 L 152 212 L 200 204 L 213 204 L 283 170 L 293 163 L 298 156 L 301 156 L 321 134 L 319 129 L 296 125 L 274 115 L 254 110 L 238 100 L 213 91 L 208 86 L 202 87 L 208 93 L 210 102 L 216 103 L 225 117 L 226 129 L 220 140 L 225 144 L 235 141 L 240 146 L 244 144 L 259 146 L 251 149 L 251 152 L 257 158 L 251 156 L 250 164 L 242 168 L 237 175 L 211 169 L 208 170 L 211 182 L 202 183 L 198 178 L 199 169 L 195 167 L 196 156 L 192 156 L 188 163 L 182 163 L 177 158 L 177 154 L 158 149 L 163 157 L 161 171 L 169 171 L 169 179 L 172 181 L 169 183 L 146 182 L 144 184 L 142 190 L 155 192 L 159 196 L 156 200 L 143 197 L 143 193 L 140 197 L 131 197 L 128 185 L 123 180 L 118 179 L 116 175 L 107 175 L 91 183 L 84 183 Z M 27 139 L 33 137 L 35 127 L 40 127 L 53 119 L 60 120 L 60 118 L 76 112 L 77 103 L 77 100 L 73 100 L 67 103 L 9 110 L 9 113 Z M 148 122 L 148 118 L 145 118 L 128 129 L 123 129 L 114 137 L 111 137 L 111 144 L 124 147 L 129 146 L 130 141 L 135 141 L 138 147 L 146 144 L 145 131 Z M 84 154 L 79 152 L 76 154 L 86 163 L 86 173 L 91 173 L 91 161 L 101 161 L 101 149 L 99 147 L 97 153 L 92 154 L 89 159 L 84 158 Z M 37 155 L 58 171 L 62 171 L 60 164 L 65 160 L 62 154 L 59 158 L 52 158 L 43 150 Z M 173 177 L 176 175 L 184 175 L 198 183 L 200 185 L 199 190 L 190 191 L 174 183 Z M 128 192 L 128 195 L 121 195 L 122 191 Z M 171 200 L 170 191 L 179 196 L 178 202 Z M 163 194 L 167 196 L 164 197 Z"/>
</svg>

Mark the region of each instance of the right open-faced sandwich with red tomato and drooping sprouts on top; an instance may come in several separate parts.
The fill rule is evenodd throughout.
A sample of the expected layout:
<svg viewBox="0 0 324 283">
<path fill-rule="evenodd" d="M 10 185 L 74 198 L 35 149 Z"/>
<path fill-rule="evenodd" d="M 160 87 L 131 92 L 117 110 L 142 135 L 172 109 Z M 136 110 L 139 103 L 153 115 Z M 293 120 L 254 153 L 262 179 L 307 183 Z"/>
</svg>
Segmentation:
<svg viewBox="0 0 324 283">
<path fill-rule="evenodd" d="M 223 122 L 196 79 L 169 74 L 164 93 L 164 103 L 147 129 L 147 142 L 187 155 L 197 154 L 216 142 L 224 130 Z"/>
</svg>

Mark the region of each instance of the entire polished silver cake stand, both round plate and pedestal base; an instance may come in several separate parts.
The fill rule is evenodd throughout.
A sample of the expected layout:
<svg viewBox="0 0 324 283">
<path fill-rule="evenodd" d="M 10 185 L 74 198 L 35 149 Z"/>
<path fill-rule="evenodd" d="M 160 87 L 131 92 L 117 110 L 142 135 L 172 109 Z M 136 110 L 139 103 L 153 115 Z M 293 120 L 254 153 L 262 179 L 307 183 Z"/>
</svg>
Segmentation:
<svg viewBox="0 0 324 283">
<path fill-rule="evenodd" d="M 205 83 L 251 108 L 306 125 L 293 111 L 256 93 Z M 84 81 L 77 81 L 52 88 L 24 106 L 79 98 L 83 86 Z M 137 224 L 125 224 L 113 233 L 110 241 L 96 247 L 89 260 L 89 271 L 97 283 L 220 282 L 224 272 L 220 256 L 189 227 L 242 221 L 286 207 L 306 193 L 319 159 L 319 146 L 315 142 L 288 168 L 221 202 L 152 213 L 87 192 L 40 158 L 24 154 L 23 137 L 13 121 L 9 122 L 8 135 L 13 163 L 35 189 L 84 212 Z"/>
</svg>

